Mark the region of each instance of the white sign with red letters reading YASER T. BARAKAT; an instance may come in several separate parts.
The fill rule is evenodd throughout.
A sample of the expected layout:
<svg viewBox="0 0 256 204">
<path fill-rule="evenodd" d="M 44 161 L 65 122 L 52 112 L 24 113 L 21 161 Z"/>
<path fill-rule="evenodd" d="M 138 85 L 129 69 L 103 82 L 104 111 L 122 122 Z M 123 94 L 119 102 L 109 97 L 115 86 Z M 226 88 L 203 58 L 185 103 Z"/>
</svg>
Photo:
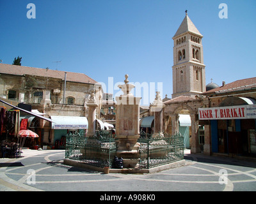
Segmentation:
<svg viewBox="0 0 256 204">
<path fill-rule="evenodd" d="M 199 120 L 256 119 L 256 105 L 198 108 Z"/>
</svg>

